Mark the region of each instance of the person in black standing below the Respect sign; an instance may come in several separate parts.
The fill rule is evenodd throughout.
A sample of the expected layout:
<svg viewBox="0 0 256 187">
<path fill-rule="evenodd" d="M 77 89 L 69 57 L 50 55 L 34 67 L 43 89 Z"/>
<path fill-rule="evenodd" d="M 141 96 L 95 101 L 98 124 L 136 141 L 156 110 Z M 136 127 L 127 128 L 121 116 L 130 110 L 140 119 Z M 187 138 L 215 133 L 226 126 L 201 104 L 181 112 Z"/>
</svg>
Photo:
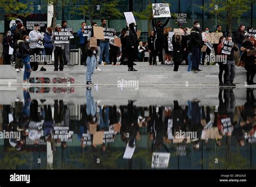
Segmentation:
<svg viewBox="0 0 256 187">
<path fill-rule="evenodd" d="M 182 47 L 181 47 L 181 36 L 173 35 L 172 37 L 173 45 L 173 62 L 174 62 L 174 72 L 177 72 L 179 69 L 180 63 L 183 61 Z"/>
</svg>

